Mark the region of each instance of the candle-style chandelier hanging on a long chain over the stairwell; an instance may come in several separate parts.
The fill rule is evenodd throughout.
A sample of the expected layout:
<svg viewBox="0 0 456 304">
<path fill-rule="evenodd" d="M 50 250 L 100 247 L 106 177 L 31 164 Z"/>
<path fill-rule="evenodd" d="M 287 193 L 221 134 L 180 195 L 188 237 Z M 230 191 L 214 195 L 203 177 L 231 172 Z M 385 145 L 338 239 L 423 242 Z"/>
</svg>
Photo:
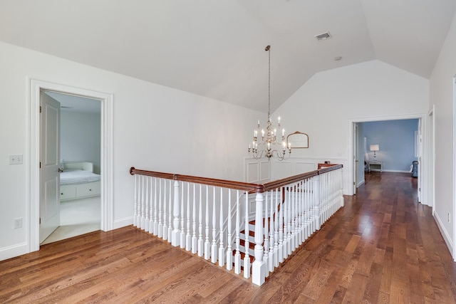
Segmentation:
<svg viewBox="0 0 456 304">
<path fill-rule="evenodd" d="M 281 131 L 281 140 L 277 137 L 277 128 L 280 129 L 280 117 L 277 118 L 277 128 L 272 124 L 271 118 L 271 46 L 266 46 L 264 51 L 268 52 L 269 56 L 269 69 L 268 69 L 268 122 L 266 131 L 261 129 L 258 120 L 257 129 L 254 130 L 254 140 L 252 144 L 249 144 L 249 154 L 252 152 L 254 159 L 260 159 L 261 157 L 267 157 L 268 160 L 274 155 L 279 160 L 284 160 L 286 155 L 288 157 L 291 154 L 291 144 L 286 145 L 285 141 L 285 129 Z M 259 134 L 261 132 L 261 140 Z M 253 145 L 253 146 L 252 146 Z M 286 154 L 288 152 L 288 154 Z"/>
</svg>

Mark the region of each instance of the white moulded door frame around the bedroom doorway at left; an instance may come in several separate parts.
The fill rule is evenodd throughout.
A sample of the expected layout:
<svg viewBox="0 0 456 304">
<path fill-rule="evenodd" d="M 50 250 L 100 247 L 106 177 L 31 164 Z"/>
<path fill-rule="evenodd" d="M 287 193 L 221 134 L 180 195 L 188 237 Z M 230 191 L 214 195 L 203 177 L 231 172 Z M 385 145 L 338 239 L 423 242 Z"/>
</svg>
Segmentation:
<svg viewBox="0 0 456 304">
<path fill-rule="evenodd" d="M 66 95 L 83 96 L 100 100 L 100 229 L 113 229 L 113 95 L 83 88 L 49 83 L 42 80 L 30 80 L 29 86 L 29 218 L 28 218 L 28 251 L 38 251 L 40 246 L 40 93 L 51 91 Z"/>
</svg>

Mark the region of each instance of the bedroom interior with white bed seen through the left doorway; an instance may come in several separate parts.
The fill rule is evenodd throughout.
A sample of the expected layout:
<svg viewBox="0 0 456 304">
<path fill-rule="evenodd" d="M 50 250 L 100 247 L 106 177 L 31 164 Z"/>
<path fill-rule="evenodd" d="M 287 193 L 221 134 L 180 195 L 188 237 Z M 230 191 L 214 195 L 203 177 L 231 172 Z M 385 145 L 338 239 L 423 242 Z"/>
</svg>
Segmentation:
<svg viewBox="0 0 456 304">
<path fill-rule="evenodd" d="M 61 103 L 59 167 L 63 172 L 60 226 L 41 244 L 100 230 L 101 222 L 101 101 L 44 93 Z"/>
</svg>

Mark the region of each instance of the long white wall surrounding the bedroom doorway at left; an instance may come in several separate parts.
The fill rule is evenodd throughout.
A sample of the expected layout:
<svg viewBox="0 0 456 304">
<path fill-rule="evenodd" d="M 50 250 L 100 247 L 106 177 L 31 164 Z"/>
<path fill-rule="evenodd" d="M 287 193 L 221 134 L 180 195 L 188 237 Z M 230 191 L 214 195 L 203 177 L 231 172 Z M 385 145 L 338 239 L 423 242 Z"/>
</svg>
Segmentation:
<svg viewBox="0 0 456 304">
<path fill-rule="evenodd" d="M 133 223 L 130 167 L 243 179 L 252 121 L 264 113 L 0 43 L 0 260 L 26 253 L 29 78 L 113 94 L 115 226 Z M 24 164 L 9 165 L 9 154 Z M 14 229 L 14 219 L 24 226 Z"/>
</svg>

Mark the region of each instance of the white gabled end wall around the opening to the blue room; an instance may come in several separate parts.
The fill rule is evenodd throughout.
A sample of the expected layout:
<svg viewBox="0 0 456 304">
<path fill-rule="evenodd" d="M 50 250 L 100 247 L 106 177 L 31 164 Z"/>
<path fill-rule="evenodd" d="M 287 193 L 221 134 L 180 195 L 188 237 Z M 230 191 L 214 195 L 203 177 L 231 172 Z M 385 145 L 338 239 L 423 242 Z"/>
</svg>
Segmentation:
<svg viewBox="0 0 456 304">
<path fill-rule="evenodd" d="M 333 159 L 344 165 L 344 193 L 351 194 L 351 122 L 429 109 L 429 80 L 381 61 L 368 61 L 317 73 L 274 112 L 286 133 L 309 135 L 309 149 L 294 157 Z"/>
</svg>

